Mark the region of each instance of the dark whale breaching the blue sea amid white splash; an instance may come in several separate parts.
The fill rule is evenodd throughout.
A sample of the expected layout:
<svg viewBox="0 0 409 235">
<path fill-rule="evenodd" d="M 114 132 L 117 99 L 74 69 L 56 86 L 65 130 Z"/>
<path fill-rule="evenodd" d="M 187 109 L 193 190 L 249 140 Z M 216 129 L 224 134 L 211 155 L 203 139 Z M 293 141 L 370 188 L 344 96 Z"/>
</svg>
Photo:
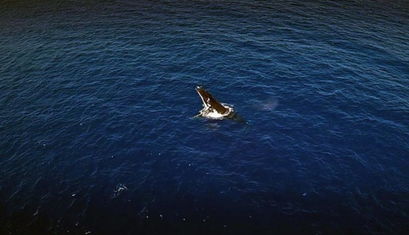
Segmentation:
<svg viewBox="0 0 409 235">
<path fill-rule="evenodd" d="M 203 109 L 196 116 L 219 120 L 235 116 L 233 106 L 217 101 L 203 86 L 196 86 L 196 92 L 203 103 Z"/>
</svg>

